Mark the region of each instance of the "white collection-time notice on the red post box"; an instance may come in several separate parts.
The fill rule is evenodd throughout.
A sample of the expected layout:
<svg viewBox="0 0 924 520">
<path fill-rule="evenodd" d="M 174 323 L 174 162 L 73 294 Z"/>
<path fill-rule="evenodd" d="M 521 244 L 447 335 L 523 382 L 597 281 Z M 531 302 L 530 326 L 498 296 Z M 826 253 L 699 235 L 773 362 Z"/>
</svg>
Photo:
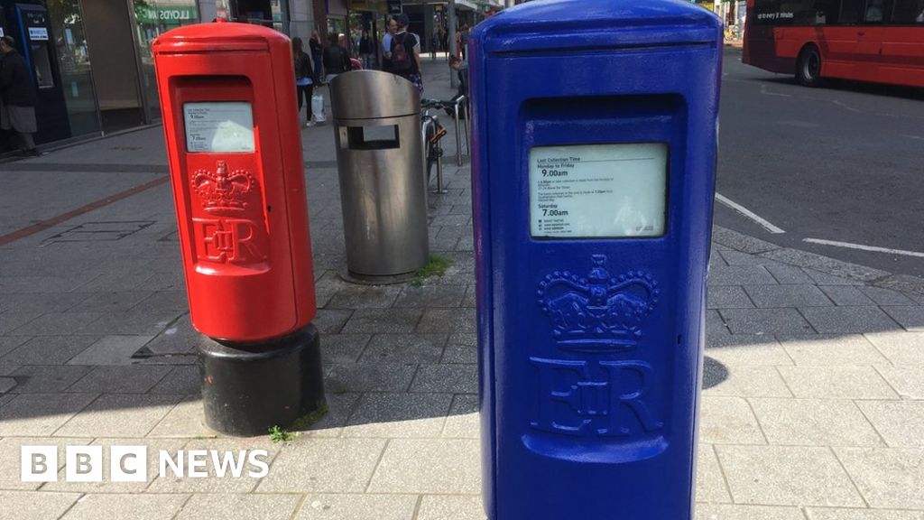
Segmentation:
<svg viewBox="0 0 924 520">
<path fill-rule="evenodd" d="M 253 111 L 249 103 L 184 103 L 186 149 L 194 153 L 246 154 L 254 151 Z"/>
</svg>

